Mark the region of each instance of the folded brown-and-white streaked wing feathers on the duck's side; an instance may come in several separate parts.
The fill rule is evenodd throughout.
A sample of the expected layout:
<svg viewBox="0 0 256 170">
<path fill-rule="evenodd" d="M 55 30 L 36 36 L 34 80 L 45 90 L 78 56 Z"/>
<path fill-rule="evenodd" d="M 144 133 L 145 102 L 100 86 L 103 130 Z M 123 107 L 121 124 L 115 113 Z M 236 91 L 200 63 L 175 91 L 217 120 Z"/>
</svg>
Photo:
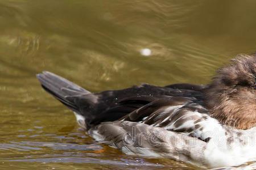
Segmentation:
<svg viewBox="0 0 256 170">
<path fill-rule="evenodd" d="M 210 117 L 200 100 L 193 97 L 159 97 L 121 118 L 122 121 L 141 122 L 168 131 L 176 131 L 208 142 L 213 134 L 224 132 L 222 125 Z"/>
</svg>

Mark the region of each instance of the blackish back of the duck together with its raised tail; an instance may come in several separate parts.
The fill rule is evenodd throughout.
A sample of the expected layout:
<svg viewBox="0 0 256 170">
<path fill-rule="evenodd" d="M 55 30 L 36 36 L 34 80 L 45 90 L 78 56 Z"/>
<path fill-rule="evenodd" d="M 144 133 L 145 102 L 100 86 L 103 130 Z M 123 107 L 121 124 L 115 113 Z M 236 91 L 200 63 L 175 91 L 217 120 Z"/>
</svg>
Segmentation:
<svg viewBox="0 0 256 170">
<path fill-rule="evenodd" d="M 200 91 L 178 90 L 148 84 L 123 90 L 92 93 L 59 75 L 44 71 L 37 75 L 44 90 L 78 114 L 86 128 L 105 121 L 119 120 L 135 109 L 166 96 L 203 97 Z M 142 97 L 143 96 L 143 97 Z M 133 98 L 126 99 L 127 97 Z M 136 99 L 137 98 L 137 99 Z M 79 120 L 78 120 L 79 121 Z"/>
</svg>

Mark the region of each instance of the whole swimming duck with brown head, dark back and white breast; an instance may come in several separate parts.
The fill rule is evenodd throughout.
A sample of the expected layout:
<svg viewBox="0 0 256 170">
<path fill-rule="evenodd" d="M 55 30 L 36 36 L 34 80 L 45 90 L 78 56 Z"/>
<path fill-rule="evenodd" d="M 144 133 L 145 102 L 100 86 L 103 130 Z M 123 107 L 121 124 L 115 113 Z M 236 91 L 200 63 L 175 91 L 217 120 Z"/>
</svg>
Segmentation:
<svg viewBox="0 0 256 170">
<path fill-rule="evenodd" d="M 204 168 L 256 160 L 255 54 L 239 54 L 205 85 L 90 92 L 48 71 L 36 76 L 90 137 L 125 154 Z"/>
</svg>

